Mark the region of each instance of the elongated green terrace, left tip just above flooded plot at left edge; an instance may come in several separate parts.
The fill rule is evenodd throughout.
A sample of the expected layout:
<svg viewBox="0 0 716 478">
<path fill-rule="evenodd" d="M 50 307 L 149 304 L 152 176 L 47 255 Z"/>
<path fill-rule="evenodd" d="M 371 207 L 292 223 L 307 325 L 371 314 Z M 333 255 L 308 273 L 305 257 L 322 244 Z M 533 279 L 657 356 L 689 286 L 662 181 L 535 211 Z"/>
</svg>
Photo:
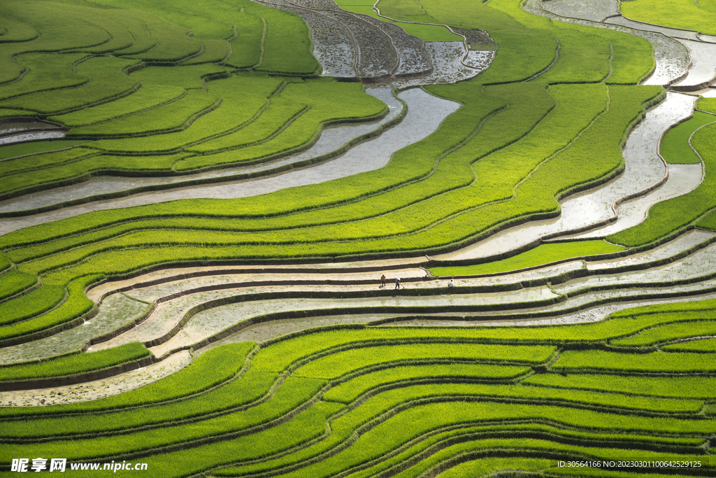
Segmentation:
<svg viewBox="0 0 716 478">
<path fill-rule="evenodd" d="M 140 113 L 178 100 L 183 95 L 185 95 L 185 90 L 181 87 L 142 85 L 136 92 L 119 100 L 84 108 L 74 113 L 51 116 L 47 119 L 71 128 L 77 128 L 78 126 L 94 125 L 114 120 L 115 118 L 122 118 L 122 116 Z"/>
</svg>

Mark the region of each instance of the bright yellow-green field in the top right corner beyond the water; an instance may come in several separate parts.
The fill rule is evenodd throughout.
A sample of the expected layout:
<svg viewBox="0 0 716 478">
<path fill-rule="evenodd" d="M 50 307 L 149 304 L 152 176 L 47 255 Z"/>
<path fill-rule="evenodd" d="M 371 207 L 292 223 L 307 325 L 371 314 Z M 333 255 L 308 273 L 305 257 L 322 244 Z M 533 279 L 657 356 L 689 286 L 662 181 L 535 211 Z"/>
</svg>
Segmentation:
<svg viewBox="0 0 716 478">
<path fill-rule="evenodd" d="M 716 34 L 716 11 L 702 8 L 691 0 L 664 3 L 657 0 L 624 2 L 621 14 L 629 19 L 706 34 Z"/>
</svg>

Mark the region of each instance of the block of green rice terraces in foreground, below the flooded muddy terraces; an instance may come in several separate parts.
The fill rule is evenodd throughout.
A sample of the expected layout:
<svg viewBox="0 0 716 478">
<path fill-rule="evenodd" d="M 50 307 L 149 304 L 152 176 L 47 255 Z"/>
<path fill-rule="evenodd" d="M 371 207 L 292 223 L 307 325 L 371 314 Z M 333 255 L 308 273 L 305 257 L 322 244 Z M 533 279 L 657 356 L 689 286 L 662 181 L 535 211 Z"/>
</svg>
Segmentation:
<svg viewBox="0 0 716 478">
<path fill-rule="evenodd" d="M 309 330 L 255 353 L 253 343 L 222 345 L 122 396 L 3 408 L 1 435 L 8 456 L 42 449 L 72 461 L 131 459 L 158 477 L 212 469 L 217 476 L 352 469 L 368 477 L 395 467 L 420 474 L 464 453 L 499 457 L 503 449 L 515 459 L 700 459 L 707 476 L 713 469 L 701 445 L 716 421 L 701 411 L 713 399 L 714 377 L 702 373 L 713 353 L 606 350 L 690 315 L 716 322 L 715 301 L 639 307 L 581 325 L 352 326 Z M 587 343 L 604 350 L 576 350 Z M 679 366 L 692 355 L 700 368 Z M 609 373 L 594 370 L 602 367 Z M 663 375 L 672 368 L 678 376 Z M 636 369 L 653 376 L 622 375 Z M 178 389 L 184 381 L 191 386 Z"/>
</svg>

